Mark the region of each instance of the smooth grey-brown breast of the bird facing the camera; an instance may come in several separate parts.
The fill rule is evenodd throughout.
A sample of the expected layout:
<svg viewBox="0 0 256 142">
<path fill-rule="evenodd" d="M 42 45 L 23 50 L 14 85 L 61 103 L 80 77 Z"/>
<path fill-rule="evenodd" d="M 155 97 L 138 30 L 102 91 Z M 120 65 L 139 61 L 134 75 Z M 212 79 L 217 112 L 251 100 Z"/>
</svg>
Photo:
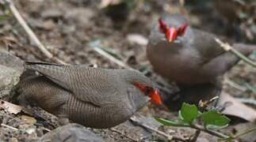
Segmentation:
<svg viewBox="0 0 256 142">
<path fill-rule="evenodd" d="M 180 50 L 162 48 L 147 48 L 147 57 L 153 65 L 155 72 L 169 80 L 180 84 L 204 82 L 201 73 L 201 58 L 197 50 L 184 47 Z"/>
</svg>

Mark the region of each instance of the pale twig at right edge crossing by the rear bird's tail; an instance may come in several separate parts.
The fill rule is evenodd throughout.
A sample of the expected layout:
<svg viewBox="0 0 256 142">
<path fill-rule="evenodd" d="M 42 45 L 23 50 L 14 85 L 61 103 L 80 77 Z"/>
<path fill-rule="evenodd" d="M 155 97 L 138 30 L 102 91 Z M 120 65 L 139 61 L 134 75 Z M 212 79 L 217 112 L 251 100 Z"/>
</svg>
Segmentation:
<svg viewBox="0 0 256 142">
<path fill-rule="evenodd" d="M 249 64 L 249 65 L 253 66 L 254 68 L 256 68 L 256 62 L 253 62 L 249 58 L 246 58 L 246 56 L 241 54 L 238 50 L 235 50 L 235 48 L 231 47 L 231 45 L 229 45 L 228 43 L 224 43 L 220 39 L 217 39 L 217 38 L 215 38 L 215 40 L 216 40 L 217 43 L 220 44 L 220 47 L 224 48 L 224 50 L 230 51 L 231 53 L 233 53 L 236 56 L 238 56 L 239 58 L 241 58 L 247 64 Z"/>
</svg>

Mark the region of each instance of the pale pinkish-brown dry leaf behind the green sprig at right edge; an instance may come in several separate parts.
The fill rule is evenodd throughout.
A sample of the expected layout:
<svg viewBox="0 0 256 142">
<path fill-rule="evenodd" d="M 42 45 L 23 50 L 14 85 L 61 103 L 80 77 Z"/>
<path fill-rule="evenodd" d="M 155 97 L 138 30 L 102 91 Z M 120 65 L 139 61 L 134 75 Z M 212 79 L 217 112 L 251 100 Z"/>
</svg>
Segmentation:
<svg viewBox="0 0 256 142">
<path fill-rule="evenodd" d="M 230 105 L 225 105 L 230 104 Z M 256 110 L 247 107 L 245 104 L 240 103 L 227 92 L 223 92 L 220 95 L 219 106 L 226 106 L 222 114 L 243 118 L 246 121 L 254 122 L 256 120 Z"/>
</svg>

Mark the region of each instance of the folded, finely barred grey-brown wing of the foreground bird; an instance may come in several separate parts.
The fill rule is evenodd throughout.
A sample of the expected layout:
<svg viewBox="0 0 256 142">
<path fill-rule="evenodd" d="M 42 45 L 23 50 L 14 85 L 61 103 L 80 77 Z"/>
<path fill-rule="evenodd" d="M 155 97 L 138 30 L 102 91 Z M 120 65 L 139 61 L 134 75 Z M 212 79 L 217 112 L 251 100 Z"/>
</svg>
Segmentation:
<svg viewBox="0 0 256 142">
<path fill-rule="evenodd" d="M 115 84 L 117 81 L 114 81 L 119 78 L 118 74 L 107 69 L 40 62 L 27 62 L 26 68 L 42 73 L 55 84 L 72 92 L 77 99 L 98 107 L 120 100 L 120 89 L 117 89 L 120 84 Z"/>
</svg>

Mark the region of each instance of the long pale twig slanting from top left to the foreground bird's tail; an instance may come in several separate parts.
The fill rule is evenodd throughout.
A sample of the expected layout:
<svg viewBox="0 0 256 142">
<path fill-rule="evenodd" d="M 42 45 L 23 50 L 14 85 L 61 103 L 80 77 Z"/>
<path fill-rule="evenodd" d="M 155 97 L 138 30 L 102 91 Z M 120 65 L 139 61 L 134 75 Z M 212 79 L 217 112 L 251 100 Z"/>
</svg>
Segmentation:
<svg viewBox="0 0 256 142">
<path fill-rule="evenodd" d="M 24 28 L 25 32 L 29 35 L 29 38 L 32 39 L 34 43 L 36 43 L 36 47 L 39 48 L 39 50 L 47 57 L 50 59 L 53 59 L 55 62 L 58 62 L 60 64 L 66 65 L 66 62 L 63 62 L 59 58 L 56 58 L 52 55 L 51 52 L 49 52 L 46 47 L 42 43 L 40 43 L 40 40 L 36 37 L 36 34 L 32 32 L 32 29 L 29 28 L 29 25 L 25 22 L 25 20 L 21 17 L 21 14 L 17 10 L 17 8 L 14 6 L 12 0 L 4 0 L 6 2 L 7 6 L 9 6 L 11 12 L 13 13 L 14 17 L 17 19 L 19 24 L 21 24 L 22 28 Z"/>
</svg>

